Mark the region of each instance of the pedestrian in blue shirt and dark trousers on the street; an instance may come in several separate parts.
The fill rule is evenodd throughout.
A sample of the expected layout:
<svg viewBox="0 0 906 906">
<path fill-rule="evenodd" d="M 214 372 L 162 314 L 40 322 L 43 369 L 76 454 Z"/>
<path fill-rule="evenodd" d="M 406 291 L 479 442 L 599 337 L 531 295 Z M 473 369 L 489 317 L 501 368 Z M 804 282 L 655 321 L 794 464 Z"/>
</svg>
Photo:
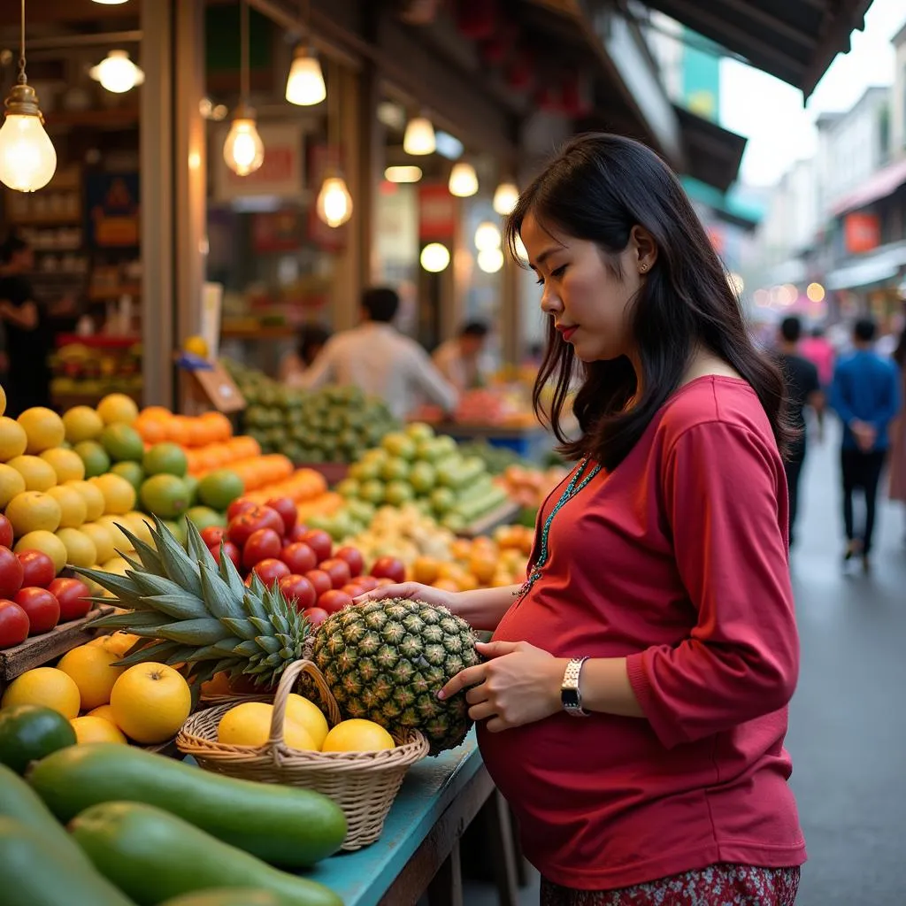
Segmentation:
<svg viewBox="0 0 906 906">
<path fill-rule="evenodd" d="M 865 572 L 871 566 L 878 484 L 890 448 L 891 422 L 901 404 L 901 376 L 890 359 L 874 352 L 876 333 L 871 318 L 855 323 L 853 352 L 838 363 L 831 388 L 831 406 L 843 422 L 843 559 L 848 562 L 861 554 Z M 853 522 L 853 493 L 857 489 L 865 497 L 861 533 L 856 532 Z"/>
</svg>

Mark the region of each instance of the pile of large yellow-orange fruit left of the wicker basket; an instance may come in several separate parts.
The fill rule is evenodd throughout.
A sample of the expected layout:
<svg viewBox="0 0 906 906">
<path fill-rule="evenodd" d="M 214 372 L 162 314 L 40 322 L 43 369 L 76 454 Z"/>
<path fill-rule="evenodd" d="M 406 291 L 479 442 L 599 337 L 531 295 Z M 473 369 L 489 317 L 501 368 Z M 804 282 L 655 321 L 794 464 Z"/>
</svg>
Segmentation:
<svg viewBox="0 0 906 906">
<path fill-rule="evenodd" d="M 0 708 L 53 708 L 70 721 L 80 743 L 167 742 L 188 718 L 188 683 L 166 664 L 114 667 L 136 641 L 138 636 L 116 632 L 73 648 L 56 667 L 26 670 L 10 683 Z"/>
</svg>

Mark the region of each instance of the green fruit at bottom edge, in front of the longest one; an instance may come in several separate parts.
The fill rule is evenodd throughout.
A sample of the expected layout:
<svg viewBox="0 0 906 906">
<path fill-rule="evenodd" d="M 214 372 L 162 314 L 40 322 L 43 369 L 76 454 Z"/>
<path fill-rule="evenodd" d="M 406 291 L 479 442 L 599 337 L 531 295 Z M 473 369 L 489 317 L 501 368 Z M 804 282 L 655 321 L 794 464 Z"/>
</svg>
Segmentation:
<svg viewBox="0 0 906 906">
<path fill-rule="evenodd" d="M 92 805 L 69 827 L 94 867 L 140 906 L 217 887 L 259 887 L 285 906 L 342 906 L 323 884 L 272 868 L 153 805 Z"/>
</svg>

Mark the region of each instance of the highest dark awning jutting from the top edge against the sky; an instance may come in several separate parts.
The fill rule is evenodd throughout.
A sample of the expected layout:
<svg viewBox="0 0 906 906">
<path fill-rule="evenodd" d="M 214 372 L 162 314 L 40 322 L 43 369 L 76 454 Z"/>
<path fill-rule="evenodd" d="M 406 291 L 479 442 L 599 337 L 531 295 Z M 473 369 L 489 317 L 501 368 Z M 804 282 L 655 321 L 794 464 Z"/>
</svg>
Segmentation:
<svg viewBox="0 0 906 906">
<path fill-rule="evenodd" d="M 872 0 L 645 0 L 695 32 L 745 57 L 753 66 L 814 92 L 837 53 L 865 27 Z"/>
</svg>

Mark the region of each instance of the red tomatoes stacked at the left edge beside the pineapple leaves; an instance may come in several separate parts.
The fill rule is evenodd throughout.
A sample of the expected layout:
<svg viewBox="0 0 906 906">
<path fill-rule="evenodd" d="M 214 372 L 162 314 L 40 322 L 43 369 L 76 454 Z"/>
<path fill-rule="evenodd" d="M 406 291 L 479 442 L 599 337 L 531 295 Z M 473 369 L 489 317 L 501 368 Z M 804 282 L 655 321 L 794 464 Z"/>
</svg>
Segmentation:
<svg viewBox="0 0 906 906">
<path fill-rule="evenodd" d="M 92 609 L 85 583 L 58 579 L 47 554 L 14 554 L 12 545 L 13 526 L 0 516 L 0 648 L 21 645 L 29 636 L 79 620 Z"/>
</svg>

